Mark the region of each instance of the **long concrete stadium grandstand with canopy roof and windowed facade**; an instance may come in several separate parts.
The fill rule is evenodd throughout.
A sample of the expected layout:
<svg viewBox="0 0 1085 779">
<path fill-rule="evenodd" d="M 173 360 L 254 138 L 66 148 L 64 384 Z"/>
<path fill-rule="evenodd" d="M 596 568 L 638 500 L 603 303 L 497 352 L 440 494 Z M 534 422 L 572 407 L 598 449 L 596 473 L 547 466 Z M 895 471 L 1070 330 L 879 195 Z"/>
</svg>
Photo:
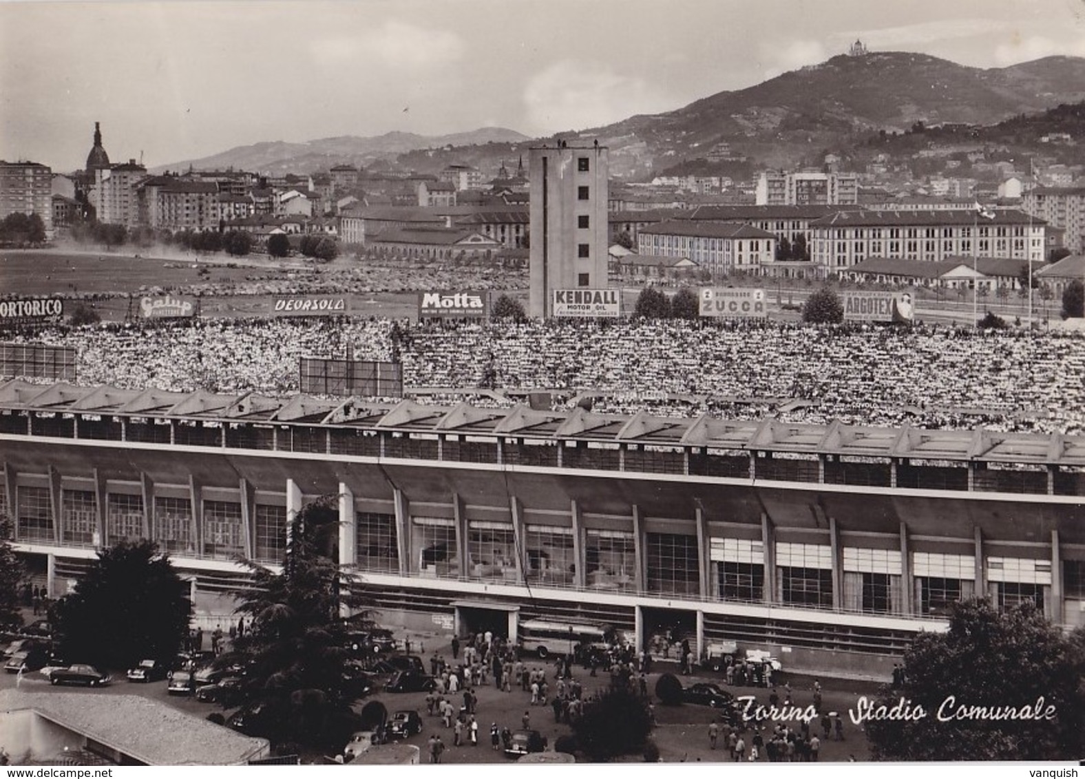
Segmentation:
<svg viewBox="0 0 1085 779">
<path fill-rule="evenodd" d="M 152 538 L 196 598 L 281 562 L 339 496 L 380 618 L 677 627 L 786 666 L 885 671 L 953 601 L 1085 621 L 1085 437 L 0 385 L 0 506 L 62 595 Z"/>
</svg>

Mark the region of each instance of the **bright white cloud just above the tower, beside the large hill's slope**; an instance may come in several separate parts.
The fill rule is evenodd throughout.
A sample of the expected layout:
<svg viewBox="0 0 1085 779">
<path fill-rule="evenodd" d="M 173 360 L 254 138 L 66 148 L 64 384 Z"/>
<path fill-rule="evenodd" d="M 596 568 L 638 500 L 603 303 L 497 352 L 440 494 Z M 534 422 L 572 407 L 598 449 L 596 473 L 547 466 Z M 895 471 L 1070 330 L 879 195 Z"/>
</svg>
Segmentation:
<svg viewBox="0 0 1085 779">
<path fill-rule="evenodd" d="M 524 88 L 527 120 L 539 132 L 582 130 L 674 107 L 666 92 L 600 63 L 562 60 Z"/>
</svg>

